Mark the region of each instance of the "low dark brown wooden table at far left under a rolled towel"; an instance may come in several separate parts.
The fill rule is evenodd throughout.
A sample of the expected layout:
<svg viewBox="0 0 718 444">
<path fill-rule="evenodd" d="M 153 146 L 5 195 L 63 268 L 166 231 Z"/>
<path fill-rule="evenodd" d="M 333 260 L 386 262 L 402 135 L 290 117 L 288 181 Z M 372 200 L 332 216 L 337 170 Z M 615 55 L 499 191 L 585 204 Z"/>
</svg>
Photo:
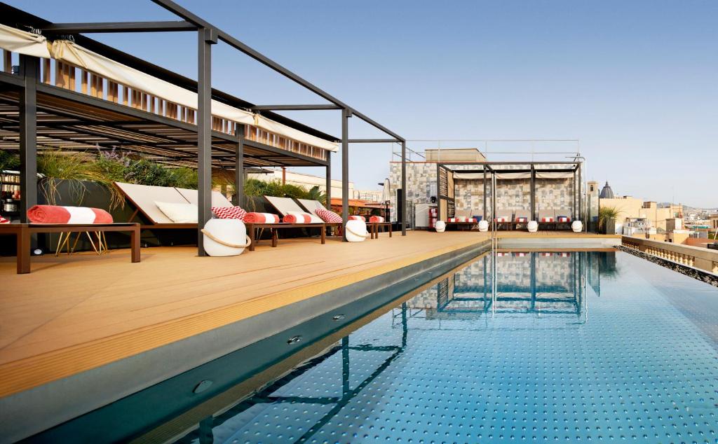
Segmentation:
<svg viewBox="0 0 718 444">
<path fill-rule="evenodd" d="M 30 273 L 30 236 L 37 233 L 67 232 L 130 232 L 132 262 L 139 262 L 139 224 L 2 224 L 0 235 L 15 235 L 17 239 L 17 274 Z"/>
</svg>

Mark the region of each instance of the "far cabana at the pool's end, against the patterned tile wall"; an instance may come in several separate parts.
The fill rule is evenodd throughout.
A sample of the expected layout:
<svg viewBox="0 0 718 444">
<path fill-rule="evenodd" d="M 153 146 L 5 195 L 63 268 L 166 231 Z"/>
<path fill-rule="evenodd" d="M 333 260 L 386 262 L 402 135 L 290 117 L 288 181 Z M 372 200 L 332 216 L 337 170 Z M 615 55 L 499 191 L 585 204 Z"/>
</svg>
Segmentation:
<svg viewBox="0 0 718 444">
<path fill-rule="evenodd" d="M 439 219 L 457 210 L 493 219 L 506 210 L 536 220 L 542 209 L 568 209 L 584 220 L 581 177 L 582 161 L 437 164 Z"/>
</svg>

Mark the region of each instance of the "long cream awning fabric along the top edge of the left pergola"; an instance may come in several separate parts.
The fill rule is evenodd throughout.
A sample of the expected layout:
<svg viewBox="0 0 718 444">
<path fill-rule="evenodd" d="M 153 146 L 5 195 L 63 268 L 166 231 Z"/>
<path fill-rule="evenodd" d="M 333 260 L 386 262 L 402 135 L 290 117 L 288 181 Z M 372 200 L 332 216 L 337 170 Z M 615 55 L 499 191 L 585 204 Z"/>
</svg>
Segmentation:
<svg viewBox="0 0 718 444">
<path fill-rule="evenodd" d="M 0 24 L 0 48 L 34 57 L 52 57 L 129 88 L 141 90 L 187 108 L 197 109 L 197 93 L 123 65 L 69 40 L 55 40 L 52 45 L 49 45 L 45 37 Z M 236 123 L 257 126 L 265 131 L 271 131 L 328 151 L 337 151 L 338 149 L 337 143 L 312 136 L 262 115 L 235 108 L 217 100 L 212 100 L 212 114 Z"/>
</svg>

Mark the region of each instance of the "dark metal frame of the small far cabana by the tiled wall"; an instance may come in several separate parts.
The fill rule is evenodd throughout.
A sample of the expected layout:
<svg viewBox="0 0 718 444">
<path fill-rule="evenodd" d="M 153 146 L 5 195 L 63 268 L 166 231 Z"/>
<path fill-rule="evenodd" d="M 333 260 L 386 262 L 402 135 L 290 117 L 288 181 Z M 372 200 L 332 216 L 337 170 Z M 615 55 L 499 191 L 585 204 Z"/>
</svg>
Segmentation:
<svg viewBox="0 0 718 444">
<path fill-rule="evenodd" d="M 584 209 L 583 209 L 583 199 L 582 199 L 582 164 L 583 161 L 505 161 L 505 162 L 447 162 L 447 163 L 437 163 L 437 213 L 439 214 L 439 217 L 441 217 L 442 214 L 442 199 L 445 201 L 454 201 L 456 197 L 456 182 L 454 182 L 454 197 L 449 197 L 447 195 L 441 194 L 442 187 L 440 186 L 441 181 L 441 172 L 442 170 L 445 171 L 446 174 L 454 173 L 454 172 L 460 172 L 460 173 L 481 173 L 483 174 L 483 186 L 484 186 L 484 192 L 483 192 L 483 212 L 484 217 L 488 218 L 488 194 L 487 194 L 487 184 L 488 180 L 491 181 L 491 184 L 495 181 L 495 175 L 501 174 L 501 173 L 530 173 L 530 193 L 529 193 L 529 211 L 531 212 L 531 217 L 536 218 L 536 173 L 573 173 L 573 179 L 572 179 L 572 212 L 575 214 L 578 214 L 579 220 L 584 220 Z M 501 169 L 501 166 L 516 166 L 516 165 L 526 165 L 528 166 L 528 169 Z M 541 166 L 544 165 L 566 165 L 567 168 L 541 168 Z M 476 169 L 452 169 L 452 166 L 477 166 Z M 490 177 L 488 177 L 490 175 Z M 545 179 L 549 180 L 549 179 Z M 448 184 L 447 184 L 448 186 Z M 494 219 L 495 214 L 495 202 L 492 199 L 491 202 L 492 210 L 491 210 L 491 219 Z M 587 227 L 587 224 L 584 224 L 584 227 Z"/>
</svg>

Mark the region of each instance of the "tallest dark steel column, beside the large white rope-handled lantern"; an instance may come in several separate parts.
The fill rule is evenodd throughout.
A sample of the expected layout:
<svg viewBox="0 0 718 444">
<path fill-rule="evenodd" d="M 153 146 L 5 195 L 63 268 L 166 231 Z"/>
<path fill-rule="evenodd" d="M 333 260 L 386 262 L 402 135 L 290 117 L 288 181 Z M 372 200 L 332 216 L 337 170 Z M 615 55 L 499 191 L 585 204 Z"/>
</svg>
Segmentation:
<svg viewBox="0 0 718 444">
<path fill-rule="evenodd" d="M 202 228 L 212 218 L 212 29 L 197 32 L 197 254 L 205 256 Z M 213 38 L 214 37 L 214 38 Z"/>
</svg>

